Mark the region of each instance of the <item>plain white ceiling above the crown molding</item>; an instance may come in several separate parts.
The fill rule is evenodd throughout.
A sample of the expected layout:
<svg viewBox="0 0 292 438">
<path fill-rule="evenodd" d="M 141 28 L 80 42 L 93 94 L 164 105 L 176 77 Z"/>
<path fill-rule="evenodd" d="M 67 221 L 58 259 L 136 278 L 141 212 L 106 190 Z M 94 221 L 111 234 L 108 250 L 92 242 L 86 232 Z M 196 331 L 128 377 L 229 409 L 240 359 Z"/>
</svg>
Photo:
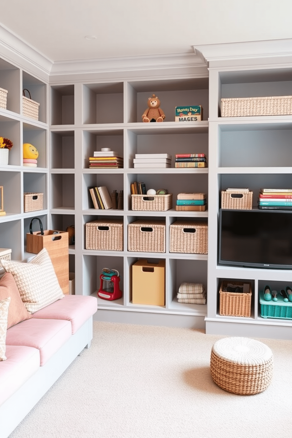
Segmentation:
<svg viewBox="0 0 292 438">
<path fill-rule="evenodd" d="M 287 39 L 291 17 L 291 0 L 2 0 L 0 8 L 0 24 L 51 61 Z"/>
</svg>

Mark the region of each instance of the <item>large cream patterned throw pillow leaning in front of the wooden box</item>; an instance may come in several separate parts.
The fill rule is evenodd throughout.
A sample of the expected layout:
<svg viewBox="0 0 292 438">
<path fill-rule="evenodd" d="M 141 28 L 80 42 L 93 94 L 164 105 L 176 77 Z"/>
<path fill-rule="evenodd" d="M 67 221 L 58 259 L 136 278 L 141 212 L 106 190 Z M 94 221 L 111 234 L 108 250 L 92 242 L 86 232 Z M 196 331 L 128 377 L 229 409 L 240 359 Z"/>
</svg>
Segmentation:
<svg viewBox="0 0 292 438">
<path fill-rule="evenodd" d="M 35 313 L 64 297 L 46 248 L 28 263 L 1 260 L 1 264 L 14 276 L 21 300 L 29 313 Z"/>
</svg>

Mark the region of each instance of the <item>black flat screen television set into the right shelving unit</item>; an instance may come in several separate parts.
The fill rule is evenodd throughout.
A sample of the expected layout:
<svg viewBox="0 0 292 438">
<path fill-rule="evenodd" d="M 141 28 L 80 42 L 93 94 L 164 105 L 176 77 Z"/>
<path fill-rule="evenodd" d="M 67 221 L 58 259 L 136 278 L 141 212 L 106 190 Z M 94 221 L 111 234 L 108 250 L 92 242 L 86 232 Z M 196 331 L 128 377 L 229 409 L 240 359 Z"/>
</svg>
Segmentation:
<svg viewBox="0 0 292 438">
<path fill-rule="evenodd" d="M 220 265 L 292 269 L 292 211 L 219 211 Z"/>
</svg>

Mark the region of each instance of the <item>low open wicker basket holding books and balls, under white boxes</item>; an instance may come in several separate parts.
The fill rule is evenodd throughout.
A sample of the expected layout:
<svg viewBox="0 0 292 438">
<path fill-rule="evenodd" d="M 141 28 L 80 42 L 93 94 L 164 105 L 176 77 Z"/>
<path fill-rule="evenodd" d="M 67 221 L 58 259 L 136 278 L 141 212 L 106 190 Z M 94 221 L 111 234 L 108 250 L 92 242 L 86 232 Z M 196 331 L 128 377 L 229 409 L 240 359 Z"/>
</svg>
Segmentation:
<svg viewBox="0 0 292 438">
<path fill-rule="evenodd" d="M 165 212 L 172 208 L 172 194 L 132 194 L 132 210 Z"/>
</svg>

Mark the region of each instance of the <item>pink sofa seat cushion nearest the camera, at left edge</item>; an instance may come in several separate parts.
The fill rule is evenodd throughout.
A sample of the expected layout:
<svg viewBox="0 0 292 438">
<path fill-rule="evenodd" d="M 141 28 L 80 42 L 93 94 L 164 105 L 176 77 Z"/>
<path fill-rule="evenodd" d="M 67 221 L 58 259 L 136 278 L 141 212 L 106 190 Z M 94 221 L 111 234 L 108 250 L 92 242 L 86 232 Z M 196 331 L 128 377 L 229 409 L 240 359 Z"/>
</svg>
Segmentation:
<svg viewBox="0 0 292 438">
<path fill-rule="evenodd" d="M 7 360 L 0 362 L 0 405 L 39 369 L 39 350 L 26 346 L 6 346 Z"/>
</svg>

